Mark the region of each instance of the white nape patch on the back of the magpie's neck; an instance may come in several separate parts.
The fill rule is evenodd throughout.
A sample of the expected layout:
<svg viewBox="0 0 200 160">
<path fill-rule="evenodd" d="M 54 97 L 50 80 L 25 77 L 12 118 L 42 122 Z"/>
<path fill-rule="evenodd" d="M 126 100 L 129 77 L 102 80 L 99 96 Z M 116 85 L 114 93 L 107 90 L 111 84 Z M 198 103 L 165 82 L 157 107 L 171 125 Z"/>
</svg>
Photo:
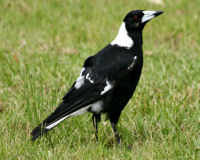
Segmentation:
<svg viewBox="0 0 200 160">
<path fill-rule="evenodd" d="M 125 47 L 130 49 L 133 46 L 133 40 L 129 37 L 128 32 L 126 30 L 125 23 L 122 22 L 119 32 L 116 38 L 111 42 L 111 45 L 118 45 L 120 47 Z"/>
</svg>

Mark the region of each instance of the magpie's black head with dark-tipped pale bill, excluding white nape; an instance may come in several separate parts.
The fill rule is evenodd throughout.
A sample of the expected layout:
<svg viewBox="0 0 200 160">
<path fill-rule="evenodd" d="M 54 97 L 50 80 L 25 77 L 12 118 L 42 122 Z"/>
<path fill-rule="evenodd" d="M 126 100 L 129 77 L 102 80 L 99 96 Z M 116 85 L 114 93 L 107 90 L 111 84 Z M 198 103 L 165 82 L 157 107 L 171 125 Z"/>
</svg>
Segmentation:
<svg viewBox="0 0 200 160">
<path fill-rule="evenodd" d="M 142 31 L 148 21 L 162 13 L 162 11 L 134 10 L 129 12 L 123 21 L 128 32 Z"/>
</svg>

